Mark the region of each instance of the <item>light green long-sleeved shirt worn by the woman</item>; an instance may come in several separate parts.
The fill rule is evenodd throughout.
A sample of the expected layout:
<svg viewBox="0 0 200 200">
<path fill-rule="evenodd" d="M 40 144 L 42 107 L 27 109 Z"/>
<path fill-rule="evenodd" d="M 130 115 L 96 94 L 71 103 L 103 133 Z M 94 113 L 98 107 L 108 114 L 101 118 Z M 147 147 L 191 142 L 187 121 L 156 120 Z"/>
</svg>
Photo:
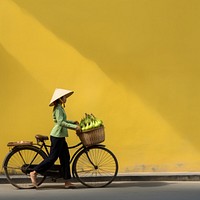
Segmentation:
<svg viewBox="0 0 200 200">
<path fill-rule="evenodd" d="M 67 120 L 67 116 L 63 107 L 58 104 L 53 110 L 54 127 L 50 133 L 54 137 L 68 137 L 67 129 L 75 130 L 77 125 L 74 121 Z"/>
</svg>

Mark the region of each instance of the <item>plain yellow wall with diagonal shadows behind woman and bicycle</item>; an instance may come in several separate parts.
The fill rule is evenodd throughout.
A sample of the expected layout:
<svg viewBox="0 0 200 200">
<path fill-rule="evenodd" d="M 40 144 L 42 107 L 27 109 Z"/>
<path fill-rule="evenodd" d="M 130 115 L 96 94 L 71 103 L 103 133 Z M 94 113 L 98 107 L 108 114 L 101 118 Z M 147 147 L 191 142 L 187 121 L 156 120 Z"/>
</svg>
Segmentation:
<svg viewBox="0 0 200 200">
<path fill-rule="evenodd" d="M 61 87 L 69 119 L 104 121 L 120 172 L 199 171 L 199 19 L 199 0 L 1 0 L 0 162 L 49 134 Z"/>
</svg>

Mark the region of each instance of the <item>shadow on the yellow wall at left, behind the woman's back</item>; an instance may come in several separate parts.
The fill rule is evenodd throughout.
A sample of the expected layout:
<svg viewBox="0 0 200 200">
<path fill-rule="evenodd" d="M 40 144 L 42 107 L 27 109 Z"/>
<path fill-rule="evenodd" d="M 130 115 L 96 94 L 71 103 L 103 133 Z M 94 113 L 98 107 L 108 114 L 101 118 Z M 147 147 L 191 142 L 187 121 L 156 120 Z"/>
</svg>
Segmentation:
<svg viewBox="0 0 200 200">
<path fill-rule="evenodd" d="M 1 45 L 0 62 L 1 144 L 48 133 L 51 111 L 46 97 L 50 95 Z"/>
</svg>

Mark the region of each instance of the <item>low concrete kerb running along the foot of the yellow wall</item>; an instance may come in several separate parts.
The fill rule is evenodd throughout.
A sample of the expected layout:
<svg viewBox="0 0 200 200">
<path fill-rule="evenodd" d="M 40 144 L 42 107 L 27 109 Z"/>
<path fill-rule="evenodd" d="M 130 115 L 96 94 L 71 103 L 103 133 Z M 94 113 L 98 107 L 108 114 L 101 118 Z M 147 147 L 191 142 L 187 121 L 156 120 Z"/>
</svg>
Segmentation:
<svg viewBox="0 0 200 200">
<path fill-rule="evenodd" d="M 48 180 L 51 181 L 51 179 Z M 115 181 L 200 181 L 200 172 L 119 173 Z M 0 175 L 0 184 L 7 183 L 6 176 Z"/>
</svg>

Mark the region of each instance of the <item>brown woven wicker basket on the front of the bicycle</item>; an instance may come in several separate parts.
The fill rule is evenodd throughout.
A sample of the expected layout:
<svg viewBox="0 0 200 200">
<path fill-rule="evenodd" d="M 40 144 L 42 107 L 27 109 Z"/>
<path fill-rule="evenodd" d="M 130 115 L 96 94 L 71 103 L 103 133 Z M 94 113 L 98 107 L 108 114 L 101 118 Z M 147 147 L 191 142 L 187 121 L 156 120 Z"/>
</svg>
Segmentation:
<svg viewBox="0 0 200 200">
<path fill-rule="evenodd" d="M 105 140 L 104 126 L 100 126 L 99 128 L 92 129 L 89 131 L 81 132 L 78 134 L 78 136 L 85 146 L 99 144 Z"/>
</svg>

